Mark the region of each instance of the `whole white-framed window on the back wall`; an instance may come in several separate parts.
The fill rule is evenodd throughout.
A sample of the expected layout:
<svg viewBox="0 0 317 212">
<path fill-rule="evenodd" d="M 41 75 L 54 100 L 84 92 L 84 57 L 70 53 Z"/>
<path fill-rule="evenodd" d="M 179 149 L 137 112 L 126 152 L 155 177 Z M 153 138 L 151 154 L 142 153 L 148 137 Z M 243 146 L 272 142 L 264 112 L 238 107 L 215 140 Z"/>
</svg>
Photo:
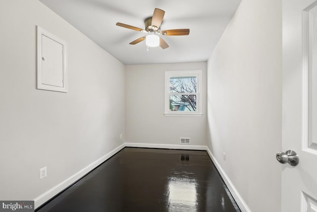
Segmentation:
<svg viewBox="0 0 317 212">
<path fill-rule="evenodd" d="M 202 71 L 165 71 L 165 116 L 201 116 Z"/>
</svg>

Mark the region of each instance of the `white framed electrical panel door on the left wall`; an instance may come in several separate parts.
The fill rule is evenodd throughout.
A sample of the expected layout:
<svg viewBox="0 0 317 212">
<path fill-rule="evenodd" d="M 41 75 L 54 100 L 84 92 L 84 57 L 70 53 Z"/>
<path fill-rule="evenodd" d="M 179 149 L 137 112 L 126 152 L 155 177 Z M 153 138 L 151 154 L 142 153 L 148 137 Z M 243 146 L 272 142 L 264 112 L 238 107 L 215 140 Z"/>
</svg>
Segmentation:
<svg viewBox="0 0 317 212">
<path fill-rule="evenodd" d="M 66 42 L 37 27 L 37 88 L 67 92 Z"/>
</svg>

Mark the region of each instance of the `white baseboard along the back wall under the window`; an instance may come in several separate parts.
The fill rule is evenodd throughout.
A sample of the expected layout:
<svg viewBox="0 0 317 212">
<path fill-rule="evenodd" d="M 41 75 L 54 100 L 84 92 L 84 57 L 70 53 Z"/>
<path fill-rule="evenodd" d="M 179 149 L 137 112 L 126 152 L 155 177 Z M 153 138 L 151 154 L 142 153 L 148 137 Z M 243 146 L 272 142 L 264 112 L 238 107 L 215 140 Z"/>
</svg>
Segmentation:
<svg viewBox="0 0 317 212">
<path fill-rule="evenodd" d="M 188 144 L 159 144 L 159 143 L 124 143 L 126 147 L 144 147 L 144 148 L 167 148 L 167 149 L 189 149 L 189 150 L 206 150 L 206 146 L 188 145 Z"/>
</svg>

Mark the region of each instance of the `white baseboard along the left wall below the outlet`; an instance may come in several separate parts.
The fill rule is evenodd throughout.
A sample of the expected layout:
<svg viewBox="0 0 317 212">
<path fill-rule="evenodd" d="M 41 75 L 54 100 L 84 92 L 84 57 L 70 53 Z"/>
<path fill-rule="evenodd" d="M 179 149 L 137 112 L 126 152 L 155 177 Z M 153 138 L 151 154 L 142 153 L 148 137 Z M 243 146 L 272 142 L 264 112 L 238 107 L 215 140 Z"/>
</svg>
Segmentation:
<svg viewBox="0 0 317 212">
<path fill-rule="evenodd" d="M 34 207 L 35 207 L 35 209 L 37 209 L 38 207 L 43 205 L 45 202 L 47 202 L 48 200 L 53 198 L 56 194 L 58 194 L 59 192 L 61 192 L 62 190 L 64 190 L 65 188 L 67 188 L 68 186 L 73 184 L 74 182 L 76 182 L 77 180 L 79 180 L 81 177 L 86 175 L 88 172 L 90 172 L 91 170 L 93 170 L 94 168 L 96 168 L 97 166 L 102 164 L 104 161 L 106 161 L 108 158 L 113 156 L 115 153 L 117 153 L 118 151 L 120 151 L 124 147 L 125 147 L 125 145 L 123 143 L 120 146 L 118 146 L 115 149 L 113 149 L 112 151 L 110 151 L 109 153 L 107 153 L 106 155 L 104 155 L 101 158 L 97 159 L 96 161 L 92 162 L 91 164 L 89 164 L 88 166 L 86 166 L 85 168 L 80 170 L 79 172 L 77 172 L 74 175 L 70 176 L 69 178 L 67 178 L 63 182 L 57 184 L 56 186 L 54 186 L 50 190 L 46 191 L 42 195 L 40 195 L 37 198 L 35 198 L 34 199 Z"/>
</svg>

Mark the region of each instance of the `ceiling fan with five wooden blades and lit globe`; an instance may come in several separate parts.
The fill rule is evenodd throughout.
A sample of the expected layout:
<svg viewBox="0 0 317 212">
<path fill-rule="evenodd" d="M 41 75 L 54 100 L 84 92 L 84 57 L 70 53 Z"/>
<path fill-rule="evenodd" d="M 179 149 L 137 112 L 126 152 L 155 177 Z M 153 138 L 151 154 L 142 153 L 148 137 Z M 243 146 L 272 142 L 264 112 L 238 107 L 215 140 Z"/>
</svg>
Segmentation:
<svg viewBox="0 0 317 212">
<path fill-rule="evenodd" d="M 124 23 L 117 22 L 117 26 L 125 27 L 128 29 L 133 29 L 136 31 L 147 33 L 148 35 L 138 38 L 132 41 L 131 45 L 135 45 L 140 43 L 141 41 L 146 40 L 146 44 L 148 47 L 157 47 L 160 46 L 162 49 L 168 48 L 168 44 L 161 38 L 159 35 L 189 35 L 189 29 L 169 29 L 169 30 L 160 30 L 159 26 L 163 21 L 165 11 L 159 8 L 154 9 L 154 13 L 152 17 L 145 19 L 145 29 L 141 29 L 135 26 L 127 25 Z"/>
</svg>

